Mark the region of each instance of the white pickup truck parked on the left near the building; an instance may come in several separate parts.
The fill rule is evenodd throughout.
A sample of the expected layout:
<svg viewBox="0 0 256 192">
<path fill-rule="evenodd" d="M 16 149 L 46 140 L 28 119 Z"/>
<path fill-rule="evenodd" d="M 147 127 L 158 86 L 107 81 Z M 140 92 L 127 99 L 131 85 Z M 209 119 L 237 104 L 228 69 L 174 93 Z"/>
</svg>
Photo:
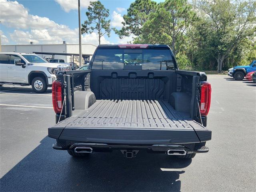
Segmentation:
<svg viewBox="0 0 256 192">
<path fill-rule="evenodd" d="M 71 70 L 66 64 L 48 63 L 36 54 L 0 53 L 0 85 L 32 85 L 34 92 L 43 93 L 56 79 L 58 70 Z"/>
</svg>

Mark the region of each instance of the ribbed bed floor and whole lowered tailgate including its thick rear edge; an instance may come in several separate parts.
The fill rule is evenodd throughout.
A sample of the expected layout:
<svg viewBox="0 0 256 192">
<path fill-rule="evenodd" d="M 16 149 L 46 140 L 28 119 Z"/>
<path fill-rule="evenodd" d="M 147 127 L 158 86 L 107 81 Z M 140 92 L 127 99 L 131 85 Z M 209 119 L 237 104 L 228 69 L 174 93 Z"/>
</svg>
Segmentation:
<svg viewBox="0 0 256 192">
<path fill-rule="evenodd" d="M 97 100 L 49 128 L 49 136 L 106 144 L 180 144 L 211 139 L 211 131 L 167 100 Z"/>
</svg>

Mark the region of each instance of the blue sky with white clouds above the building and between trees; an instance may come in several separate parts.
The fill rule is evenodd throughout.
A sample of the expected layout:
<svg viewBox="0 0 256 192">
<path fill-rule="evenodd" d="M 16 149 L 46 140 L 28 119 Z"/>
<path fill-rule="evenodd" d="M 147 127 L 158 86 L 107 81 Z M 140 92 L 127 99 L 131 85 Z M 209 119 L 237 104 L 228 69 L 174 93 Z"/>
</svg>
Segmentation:
<svg viewBox="0 0 256 192">
<path fill-rule="evenodd" d="M 81 22 L 86 20 L 90 0 L 81 1 Z M 161 2 L 163 0 L 156 0 Z M 101 0 L 109 9 L 111 26 L 121 28 L 122 16 L 133 0 Z M 0 30 L 2 44 L 57 44 L 66 40 L 78 43 L 77 0 L 0 0 Z M 85 34 L 83 43 L 97 44 L 96 34 Z M 103 43 L 126 43 L 114 32 L 104 36 Z"/>
</svg>

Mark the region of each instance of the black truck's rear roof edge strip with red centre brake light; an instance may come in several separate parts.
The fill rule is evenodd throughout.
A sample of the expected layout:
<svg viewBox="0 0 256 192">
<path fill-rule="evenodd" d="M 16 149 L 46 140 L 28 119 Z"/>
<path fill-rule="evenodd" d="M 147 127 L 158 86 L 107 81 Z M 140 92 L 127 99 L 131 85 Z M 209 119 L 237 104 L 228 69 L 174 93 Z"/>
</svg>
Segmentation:
<svg viewBox="0 0 256 192">
<path fill-rule="evenodd" d="M 160 49 L 170 49 L 168 45 L 152 45 L 152 44 L 102 44 L 98 45 L 98 48 L 160 48 Z"/>
</svg>

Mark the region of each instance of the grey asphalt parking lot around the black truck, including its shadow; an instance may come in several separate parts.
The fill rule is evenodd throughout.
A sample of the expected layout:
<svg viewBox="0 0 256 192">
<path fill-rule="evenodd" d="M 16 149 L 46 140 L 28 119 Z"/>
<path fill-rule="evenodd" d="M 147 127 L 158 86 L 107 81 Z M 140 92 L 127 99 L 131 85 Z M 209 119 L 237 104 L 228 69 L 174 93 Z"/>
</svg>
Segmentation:
<svg viewBox="0 0 256 192">
<path fill-rule="evenodd" d="M 51 89 L 0 88 L 0 191 L 255 191 L 256 84 L 209 75 L 210 152 L 191 160 L 139 152 L 76 159 L 52 149 Z"/>
</svg>

